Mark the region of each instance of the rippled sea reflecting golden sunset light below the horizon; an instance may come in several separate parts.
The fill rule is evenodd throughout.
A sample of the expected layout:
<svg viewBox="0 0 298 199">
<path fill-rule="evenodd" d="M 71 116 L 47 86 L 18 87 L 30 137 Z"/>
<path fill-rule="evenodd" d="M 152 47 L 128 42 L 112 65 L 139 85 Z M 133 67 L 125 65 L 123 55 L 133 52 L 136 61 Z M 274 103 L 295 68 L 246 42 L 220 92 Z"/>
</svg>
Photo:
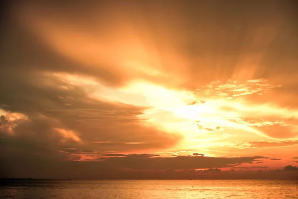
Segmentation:
<svg viewBox="0 0 298 199">
<path fill-rule="evenodd" d="M 4 199 L 298 199 L 296 180 L 26 180 L 0 185 Z"/>
</svg>

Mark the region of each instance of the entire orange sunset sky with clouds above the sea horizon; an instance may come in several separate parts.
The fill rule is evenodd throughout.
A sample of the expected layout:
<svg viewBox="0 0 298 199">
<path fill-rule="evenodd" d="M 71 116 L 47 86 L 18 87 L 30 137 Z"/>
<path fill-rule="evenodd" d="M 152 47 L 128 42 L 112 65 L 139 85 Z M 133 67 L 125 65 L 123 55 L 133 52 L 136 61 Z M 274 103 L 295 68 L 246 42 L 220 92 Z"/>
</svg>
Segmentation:
<svg viewBox="0 0 298 199">
<path fill-rule="evenodd" d="M 298 178 L 295 0 L 1 3 L 0 177 Z"/>
</svg>

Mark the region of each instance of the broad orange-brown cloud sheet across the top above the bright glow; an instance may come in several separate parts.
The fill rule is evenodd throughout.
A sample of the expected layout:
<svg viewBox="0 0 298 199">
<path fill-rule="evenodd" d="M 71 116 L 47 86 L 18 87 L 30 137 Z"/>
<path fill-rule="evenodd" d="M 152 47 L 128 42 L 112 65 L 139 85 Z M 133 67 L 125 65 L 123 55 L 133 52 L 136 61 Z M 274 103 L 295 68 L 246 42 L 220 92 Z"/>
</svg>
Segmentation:
<svg viewBox="0 0 298 199">
<path fill-rule="evenodd" d="M 187 6 L 182 6 L 183 2 L 165 4 L 177 12 L 176 16 L 179 20 L 175 23 L 171 22 L 174 19 L 171 13 L 156 9 L 160 2 L 147 2 L 146 9 L 142 3 L 137 2 L 129 5 L 118 2 L 117 6 L 115 2 L 91 1 L 83 5 L 63 3 L 63 6 L 57 2 L 47 3 L 47 6 L 40 2 L 19 3 L 13 10 L 19 15 L 19 18 L 15 17 L 15 21 L 22 23 L 29 33 L 34 32 L 37 35 L 40 43 L 34 43 L 31 48 L 41 48 L 43 51 L 23 51 L 24 49 L 12 49 L 11 47 L 7 49 L 17 50 L 14 53 L 21 53 L 22 56 L 18 57 L 21 57 L 24 63 L 32 62 L 33 52 L 35 52 L 43 62 L 54 58 L 43 67 L 57 70 L 58 65 L 52 63 L 59 61 L 60 70 L 96 74 L 95 76 L 103 82 L 118 86 L 138 76 L 157 82 L 164 82 L 165 78 L 172 80 L 167 81 L 167 84 L 173 82 L 170 77 L 180 76 L 180 79 L 175 79 L 175 81 L 183 81 L 182 85 L 191 88 L 197 85 L 198 79 L 208 83 L 218 78 L 231 78 L 233 75 L 238 75 L 239 79 L 247 79 L 247 77 L 249 77 L 248 80 L 259 79 L 264 76 L 265 71 L 269 77 L 277 72 L 285 74 L 285 70 L 278 67 L 280 65 L 286 67 L 286 71 L 295 71 L 292 65 L 282 64 L 290 56 L 282 52 L 291 51 L 293 54 L 294 50 L 289 47 L 290 43 L 286 40 L 286 36 L 277 37 L 280 21 L 288 23 L 289 21 L 284 15 L 272 14 L 278 9 L 274 2 L 269 3 L 270 6 L 267 4 L 265 6 L 262 2 L 256 3 L 256 6 L 265 7 L 258 11 L 254 9 L 256 6 L 237 3 L 238 7 L 247 10 L 247 12 L 242 12 L 240 18 L 238 11 L 221 2 L 219 6 L 222 9 L 214 6 L 206 7 L 206 4 L 201 2 L 193 2 Z M 200 7 L 201 11 L 198 12 L 193 7 Z M 140 15 L 136 10 L 142 10 L 140 12 L 143 13 L 142 17 L 134 17 Z M 255 12 L 254 16 L 250 15 L 252 10 Z M 218 20 L 217 17 L 209 14 L 213 11 L 224 17 Z M 53 12 L 56 13 L 55 16 L 51 15 Z M 226 12 L 231 15 L 227 16 Z M 158 24 L 152 23 L 150 13 L 155 13 L 159 19 Z M 79 20 L 71 20 L 77 19 L 77 16 L 81 16 Z M 234 16 L 238 18 L 235 19 Z M 203 17 L 207 18 L 210 23 L 204 32 L 201 32 L 201 26 L 206 25 L 205 22 L 197 21 L 198 25 L 193 25 L 193 23 L 197 18 Z M 63 20 L 57 20 L 57 18 Z M 102 18 L 109 18 L 110 23 L 106 24 Z M 70 20 L 72 23 L 69 23 Z M 248 23 L 243 25 L 244 21 Z M 131 25 L 132 23 L 141 24 L 140 27 L 143 28 L 136 29 Z M 242 29 L 233 28 L 233 31 L 230 31 L 231 27 L 239 24 Z M 264 24 L 270 24 L 270 26 L 264 27 Z M 106 31 L 101 31 L 103 28 Z M 286 30 L 283 29 L 283 31 Z M 200 36 L 197 36 L 198 32 Z M 119 37 L 120 33 L 125 36 Z M 14 41 L 13 36 L 13 34 L 10 36 L 11 41 Z M 142 38 L 142 40 L 137 38 Z M 190 38 L 192 38 L 191 42 Z M 293 39 L 295 40 L 295 37 Z M 19 42 L 19 40 L 20 38 L 17 38 L 14 42 Z M 242 40 L 245 48 L 239 48 L 239 40 Z M 280 40 L 283 42 L 279 42 Z M 32 39 L 21 41 L 30 44 Z M 8 45 L 9 42 L 5 44 Z M 22 45 L 22 48 L 24 46 L 27 45 Z M 44 55 L 45 51 L 48 56 Z M 265 56 L 267 55 L 265 52 L 268 54 L 279 52 L 279 62 L 275 63 L 272 56 Z M 197 56 L 199 53 L 200 57 Z M 7 54 L 10 55 L 10 52 Z M 30 56 L 26 56 L 28 54 Z M 42 56 L 39 56 L 40 54 Z M 210 58 L 211 55 L 212 58 Z M 216 58 L 213 55 L 217 55 Z M 37 62 L 37 59 L 34 59 L 34 62 Z M 127 65 L 130 71 L 126 71 Z M 203 67 L 208 70 L 202 70 Z M 170 68 L 171 70 L 168 70 Z M 170 75 L 164 77 L 164 73 L 170 73 Z M 259 82 L 253 81 L 252 83 Z M 263 82 L 260 83 L 263 84 Z"/>
</svg>

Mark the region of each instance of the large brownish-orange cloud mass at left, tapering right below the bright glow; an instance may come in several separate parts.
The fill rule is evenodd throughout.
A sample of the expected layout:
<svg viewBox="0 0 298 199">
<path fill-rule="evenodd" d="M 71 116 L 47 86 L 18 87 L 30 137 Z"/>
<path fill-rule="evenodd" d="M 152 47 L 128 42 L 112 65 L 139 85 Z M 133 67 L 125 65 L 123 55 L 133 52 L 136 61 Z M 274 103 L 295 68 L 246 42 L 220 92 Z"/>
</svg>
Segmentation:
<svg viewBox="0 0 298 199">
<path fill-rule="evenodd" d="M 7 155 L 11 154 L 9 149 L 22 150 L 28 140 L 37 148 L 39 144 L 48 147 L 43 155 L 63 153 L 65 159 L 79 160 L 86 155 L 81 150 L 96 151 L 87 155 L 97 158 L 100 151 L 161 149 L 182 139 L 179 134 L 148 125 L 142 118 L 147 107 L 93 98 L 87 88 L 45 72 L 8 74 L 11 78 L 0 80 L 1 86 L 10 85 L 0 89 L 0 102 L 8 104 L 1 106 L 6 115 L 0 121 L 0 134 L 11 134 L 5 135 L 7 141 L 2 148 Z M 76 151 L 71 153 L 63 148 Z"/>
</svg>

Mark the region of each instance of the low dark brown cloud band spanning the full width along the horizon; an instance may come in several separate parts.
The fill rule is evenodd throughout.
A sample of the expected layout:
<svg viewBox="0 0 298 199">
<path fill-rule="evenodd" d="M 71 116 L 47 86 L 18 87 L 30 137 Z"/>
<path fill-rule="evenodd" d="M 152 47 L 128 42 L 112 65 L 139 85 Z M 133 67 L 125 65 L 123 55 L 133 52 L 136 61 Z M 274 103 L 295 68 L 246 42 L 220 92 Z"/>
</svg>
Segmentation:
<svg viewBox="0 0 298 199">
<path fill-rule="evenodd" d="M 1 168 L 0 177 L 15 178 L 72 178 L 72 179 L 297 179 L 296 167 L 286 167 L 283 170 L 266 171 L 259 174 L 254 171 L 221 171 L 218 167 L 236 162 L 249 162 L 263 157 L 244 158 L 211 158 L 180 156 L 174 158 L 145 157 L 142 154 L 127 155 L 126 157 L 110 157 L 100 161 L 65 161 L 63 157 L 56 156 L 19 156 L 2 157 L 9 170 Z M 61 154 L 63 156 L 63 154 Z M 110 154 L 108 154 L 110 155 Z M 123 155 L 123 154 L 119 154 Z M 169 161 L 170 159 L 170 161 Z M 181 159 L 186 160 L 187 167 Z M 202 159 L 202 161 L 200 161 Z M 18 164 L 15 164 L 15 161 Z M 136 164 L 149 164 L 142 169 L 137 169 Z M 192 162 L 192 164 L 189 164 Z M 123 164 L 122 164 L 123 163 Z M 22 167 L 19 167 L 22 165 Z M 156 165 L 156 166 L 155 166 Z M 208 169 L 199 170 L 191 168 L 205 167 Z M 184 169 L 181 169 L 184 168 Z M 219 167 L 220 168 L 220 167 Z M 162 169 L 162 170 L 160 170 Z M 234 169 L 267 169 L 267 167 L 243 167 Z M 79 172 L 78 172 L 79 171 Z"/>
</svg>

